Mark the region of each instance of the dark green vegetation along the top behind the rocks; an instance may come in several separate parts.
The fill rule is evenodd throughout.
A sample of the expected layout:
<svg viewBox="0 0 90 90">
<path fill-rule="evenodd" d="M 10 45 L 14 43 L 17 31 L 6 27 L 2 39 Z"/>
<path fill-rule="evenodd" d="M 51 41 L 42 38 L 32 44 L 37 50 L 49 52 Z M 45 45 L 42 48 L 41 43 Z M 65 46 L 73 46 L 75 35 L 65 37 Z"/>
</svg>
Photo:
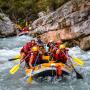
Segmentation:
<svg viewBox="0 0 90 90">
<path fill-rule="evenodd" d="M 0 0 L 0 9 L 14 22 L 22 18 L 35 20 L 38 12 L 53 11 L 69 0 Z"/>
</svg>

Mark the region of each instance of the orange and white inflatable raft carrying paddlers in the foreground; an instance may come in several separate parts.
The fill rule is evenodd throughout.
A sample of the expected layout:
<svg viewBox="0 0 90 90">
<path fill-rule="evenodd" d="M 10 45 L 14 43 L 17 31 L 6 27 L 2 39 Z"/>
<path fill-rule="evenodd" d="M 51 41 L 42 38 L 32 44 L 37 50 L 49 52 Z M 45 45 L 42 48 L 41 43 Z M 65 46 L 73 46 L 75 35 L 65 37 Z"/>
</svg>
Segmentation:
<svg viewBox="0 0 90 90">
<path fill-rule="evenodd" d="M 61 76 L 69 75 L 73 68 L 67 66 L 63 63 L 55 63 L 54 61 L 50 61 L 49 63 L 43 63 L 35 66 L 35 69 L 25 69 L 26 76 L 28 77 L 46 77 L 46 76 L 56 76 L 57 70 L 61 72 Z"/>
</svg>

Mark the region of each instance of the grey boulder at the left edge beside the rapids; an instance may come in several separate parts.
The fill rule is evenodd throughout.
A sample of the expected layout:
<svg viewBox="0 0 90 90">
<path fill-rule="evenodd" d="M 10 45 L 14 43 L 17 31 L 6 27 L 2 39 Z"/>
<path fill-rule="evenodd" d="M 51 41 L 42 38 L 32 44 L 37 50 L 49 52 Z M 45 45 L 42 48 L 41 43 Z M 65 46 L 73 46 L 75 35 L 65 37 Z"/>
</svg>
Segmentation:
<svg viewBox="0 0 90 90">
<path fill-rule="evenodd" d="M 16 34 L 14 29 L 14 24 L 11 20 L 5 15 L 0 13 L 0 37 L 13 36 Z"/>
</svg>

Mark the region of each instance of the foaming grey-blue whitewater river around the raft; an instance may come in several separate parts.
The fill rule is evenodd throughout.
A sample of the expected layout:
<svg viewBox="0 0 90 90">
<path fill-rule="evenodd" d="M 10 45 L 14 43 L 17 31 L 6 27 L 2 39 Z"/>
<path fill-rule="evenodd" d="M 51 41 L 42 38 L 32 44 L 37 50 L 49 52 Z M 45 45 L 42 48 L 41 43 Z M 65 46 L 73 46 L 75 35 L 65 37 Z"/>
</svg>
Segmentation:
<svg viewBox="0 0 90 90">
<path fill-rule="evenodd" d="M 29 36 L 1 38 L 0 39 L 0 90 L 90 90 L 90 51 L 82 51 L 78 46 L 70 48 L 69 54 L 78 57 L 85 62 L 80 72 L 83 74 L 83 80 L 72 79 L 59 83 L 36 83 L 32 85 L 24 80 L 24 71 L 21 67 L 14 75 L 9 74 L 12 66 L 19 63 L 8 61 L 15 57 L 20 48 L 32 38 Z"/>
</svg>

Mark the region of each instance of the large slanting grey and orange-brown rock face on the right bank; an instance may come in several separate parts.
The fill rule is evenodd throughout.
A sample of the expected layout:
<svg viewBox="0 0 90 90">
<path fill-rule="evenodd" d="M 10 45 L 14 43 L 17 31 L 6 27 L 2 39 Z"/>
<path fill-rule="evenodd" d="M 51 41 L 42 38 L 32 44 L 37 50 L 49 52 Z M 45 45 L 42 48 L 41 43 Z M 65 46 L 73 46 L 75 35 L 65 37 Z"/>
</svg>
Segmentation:
<svg viewBox="0 0 90 90">
<path fill-rule="evenodd" d="M 90 49 L 90 0 L 71 0 L 46 16 L 35 20 L 30 34 L 42 39 L 60 38 L 73 42 L 83 50 Z"/>
</svg>

